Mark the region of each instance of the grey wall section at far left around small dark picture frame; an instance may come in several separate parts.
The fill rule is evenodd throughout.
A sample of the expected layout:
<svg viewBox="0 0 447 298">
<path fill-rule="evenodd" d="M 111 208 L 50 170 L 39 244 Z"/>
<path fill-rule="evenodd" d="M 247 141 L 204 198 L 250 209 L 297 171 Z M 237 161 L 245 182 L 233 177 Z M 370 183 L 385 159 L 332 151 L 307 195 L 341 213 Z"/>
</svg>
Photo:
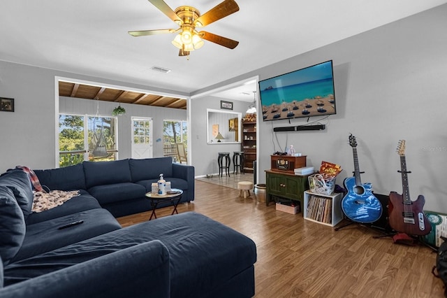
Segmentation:
<svg viewBox="0 0 447 298">
<path fill-rule="evenodd" d="M 15 99 L 15 112 L 0 112 L 0 171 L 17 165 L 54 167 L 54 74 L 0 62 L 0 97 Z"/>
</svg>

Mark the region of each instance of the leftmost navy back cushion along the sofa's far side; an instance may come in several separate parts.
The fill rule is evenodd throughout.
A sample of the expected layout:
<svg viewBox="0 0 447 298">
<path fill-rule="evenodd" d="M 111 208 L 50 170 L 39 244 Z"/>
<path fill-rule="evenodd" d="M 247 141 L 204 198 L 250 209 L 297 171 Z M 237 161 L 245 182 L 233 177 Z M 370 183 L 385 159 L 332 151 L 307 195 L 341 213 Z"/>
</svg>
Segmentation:
<svg viewBox="0 0 447 298">
<path fill-rule="evenodd" d="M 82 164 L 59 169 L 34 170 L 34 173 L 41 185 L 50 190 L 87 190 Z"/>
</svg>

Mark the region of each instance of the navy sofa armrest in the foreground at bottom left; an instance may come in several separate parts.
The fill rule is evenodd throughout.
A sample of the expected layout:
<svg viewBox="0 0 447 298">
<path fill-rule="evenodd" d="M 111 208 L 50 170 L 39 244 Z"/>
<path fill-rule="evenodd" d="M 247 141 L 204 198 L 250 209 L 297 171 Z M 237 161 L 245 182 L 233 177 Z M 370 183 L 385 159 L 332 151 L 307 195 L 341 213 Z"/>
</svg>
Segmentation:
<svg viewBox="0 0 447 298">
<path fill-rule="evenodd" d="M 2 298 L 170 297 L 169 253 L 154 240 L 0 288 Z"/>
</svg>

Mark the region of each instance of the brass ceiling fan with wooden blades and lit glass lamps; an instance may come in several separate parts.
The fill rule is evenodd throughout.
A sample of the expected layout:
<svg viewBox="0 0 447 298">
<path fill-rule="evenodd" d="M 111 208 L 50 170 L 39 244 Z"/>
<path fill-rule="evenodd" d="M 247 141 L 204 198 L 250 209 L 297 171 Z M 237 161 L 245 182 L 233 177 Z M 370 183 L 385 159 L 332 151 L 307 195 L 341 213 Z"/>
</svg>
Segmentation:
<svg viewBox="0 0 447 298">
<path fill-rule="evenodd" d="M 163 0 L 148 0 L 159 8 L 162 13 L 167 15 L 177 25 L 178 29 L 155 29 L 142 31 L 129 31 L 131 36 L 147 36 L 165 33 L 179 33 L 172 41 L 175 47 L 179 48 L 179 56 L 188 56 L 189 52 L 201 48 L 204 44 L 202 39 L 223 45 L 226 48 L 234 49 L 239 44 L 239 41 L 212 34 L 207 31 L 197 31 L 196 27 L 205 27 L 212 22 L 222 19 L 239 10 L 239 6 L 234 0 L 224 0 L 214 8 L 211 8 L 203 15 L 197 8 L 192 6 L 179 6 L 172 10 L 168 4 Z"/>
</svg>

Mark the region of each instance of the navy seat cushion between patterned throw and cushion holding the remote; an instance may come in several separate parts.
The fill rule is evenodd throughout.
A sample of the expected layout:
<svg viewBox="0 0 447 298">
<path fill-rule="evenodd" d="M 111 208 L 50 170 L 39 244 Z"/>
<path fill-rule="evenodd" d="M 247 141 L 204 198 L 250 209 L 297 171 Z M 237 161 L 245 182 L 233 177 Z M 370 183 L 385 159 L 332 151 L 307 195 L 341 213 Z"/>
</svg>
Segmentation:
<svg viewBox="0 0 447 298">
<path fill-rule="evenodd" d="M 90 194 L 81 194 L 77 197 L 72 197 L 64 204 L 57 207 L 42 211 L 31 213 L 25 222 L 27 225 L 33 225 L 45 220 L 52 220 L 53 218 L 60 218 L 61 216 L 70 215 L 82 211 L 101 208 L 98 200 L 91 197 Z"/>
</svg>

